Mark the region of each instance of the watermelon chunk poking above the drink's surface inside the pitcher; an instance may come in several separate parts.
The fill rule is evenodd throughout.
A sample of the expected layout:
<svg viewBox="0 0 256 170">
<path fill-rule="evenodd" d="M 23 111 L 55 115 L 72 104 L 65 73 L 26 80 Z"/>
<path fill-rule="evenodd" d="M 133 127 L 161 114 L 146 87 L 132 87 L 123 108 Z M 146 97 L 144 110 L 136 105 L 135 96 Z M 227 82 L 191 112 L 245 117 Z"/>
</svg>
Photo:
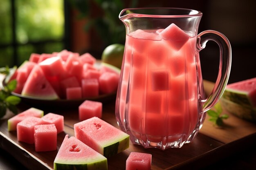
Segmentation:
<svg viewBox="0 0 256 170">
<path fill-rule="evenodd" d="M 159 35 L 165 40 L 170 41 L 173 48 L 177 51 L 189 40 L 189 35 L 174 23 L 161 31 Z"/>
</svg>

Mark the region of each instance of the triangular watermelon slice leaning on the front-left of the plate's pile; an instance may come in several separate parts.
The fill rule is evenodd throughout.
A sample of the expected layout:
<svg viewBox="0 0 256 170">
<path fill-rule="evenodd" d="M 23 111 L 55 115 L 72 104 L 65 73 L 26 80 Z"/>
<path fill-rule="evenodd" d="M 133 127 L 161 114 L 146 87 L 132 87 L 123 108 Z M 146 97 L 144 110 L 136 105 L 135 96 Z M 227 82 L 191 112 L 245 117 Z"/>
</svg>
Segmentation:
<svg viewBox="0 0 256 170">
<path fill-rule="evenodd" d="M 58 99 L 54 88 L 47 81 L 42 69 L 38 65 L 34 66 L 29 74 L 21 95 L 47 100 Z"/>
</svg>

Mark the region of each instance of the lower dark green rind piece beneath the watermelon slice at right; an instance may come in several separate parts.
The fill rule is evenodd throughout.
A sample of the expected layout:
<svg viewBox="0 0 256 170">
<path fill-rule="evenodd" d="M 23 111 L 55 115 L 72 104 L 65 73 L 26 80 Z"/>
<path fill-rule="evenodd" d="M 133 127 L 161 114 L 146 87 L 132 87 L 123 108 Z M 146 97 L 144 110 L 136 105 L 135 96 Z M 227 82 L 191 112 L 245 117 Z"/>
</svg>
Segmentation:
<svg viewBox="0 0 256 170">
<path fill-rule="evenodd" d="M 256 123 L 256 109 L 237 104 L 225 98 L 221 98 L 220 102 L 229 113 L 247 121 Z"/>
</svg>

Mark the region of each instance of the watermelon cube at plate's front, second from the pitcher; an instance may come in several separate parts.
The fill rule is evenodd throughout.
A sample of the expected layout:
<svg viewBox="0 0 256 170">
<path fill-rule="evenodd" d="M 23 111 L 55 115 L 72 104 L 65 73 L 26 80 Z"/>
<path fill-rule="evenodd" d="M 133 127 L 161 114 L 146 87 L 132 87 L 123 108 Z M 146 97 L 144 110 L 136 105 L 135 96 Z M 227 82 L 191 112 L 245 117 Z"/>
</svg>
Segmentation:
<svg viewBox="0 0 256 170">
<path fill-rule="evenodd" d="M 98 79 L 82 79 L 83 97 L 96 97 L 99 95 Z"/>
</svg>

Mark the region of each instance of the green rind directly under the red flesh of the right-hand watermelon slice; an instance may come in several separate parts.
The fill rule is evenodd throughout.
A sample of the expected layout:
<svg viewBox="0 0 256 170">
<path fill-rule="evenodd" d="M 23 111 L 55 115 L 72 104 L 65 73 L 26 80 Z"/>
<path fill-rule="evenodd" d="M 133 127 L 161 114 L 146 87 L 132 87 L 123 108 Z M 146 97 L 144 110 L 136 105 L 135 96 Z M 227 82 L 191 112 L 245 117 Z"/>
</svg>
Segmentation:
<svg viewBox="0 0 256 170">
<path fill-rule="evenodd" d="M 236 91 L 234 89 L 226 88 L 222 97 L 241 106 L 256 108 L 255 106 L 253 106 L 247 92 Z"/>
</svg>

